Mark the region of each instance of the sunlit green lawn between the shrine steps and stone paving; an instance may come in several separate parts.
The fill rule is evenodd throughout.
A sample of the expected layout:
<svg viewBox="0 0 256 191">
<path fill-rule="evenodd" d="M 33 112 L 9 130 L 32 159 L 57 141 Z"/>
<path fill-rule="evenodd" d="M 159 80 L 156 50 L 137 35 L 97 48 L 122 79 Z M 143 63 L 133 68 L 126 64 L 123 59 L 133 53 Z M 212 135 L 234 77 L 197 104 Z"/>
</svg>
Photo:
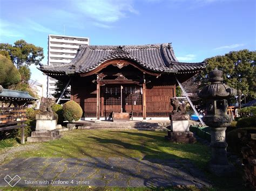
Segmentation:
<svg viewBox="0 0 256 191">
<path fill-rule="evenodd" d="M 199 167 L 210 159 L 210 148 L 200 143 L 174 144 L 164 138 L 166 132 L 137 130 L 73 130 L 63 138 L 40 143 L 34 151 L 15 157 L 132 157 L 139 159 L 189 159 Z M 29 143 L 27 143 L 29 144 Z"/>
</svg>

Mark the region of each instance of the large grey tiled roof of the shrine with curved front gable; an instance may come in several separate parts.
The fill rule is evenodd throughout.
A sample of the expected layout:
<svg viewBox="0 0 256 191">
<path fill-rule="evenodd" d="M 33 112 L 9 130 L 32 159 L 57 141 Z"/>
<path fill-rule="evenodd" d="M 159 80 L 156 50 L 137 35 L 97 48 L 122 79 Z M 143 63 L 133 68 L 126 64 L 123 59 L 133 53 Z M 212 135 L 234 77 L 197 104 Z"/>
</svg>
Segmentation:
<svg viewBox="0 0 256 191">
<path fill-rule="evenodd" d="M 111 59 L 130 59 L 146 69 L 156 72 L 178 73 L 205 68 L 204 62 L 179 62 L 171 44 L 153 44 L 137 46 L 88 46 L 78 49 L 76 57 L 67 64 L 41 66 L 44 73 L 75 74 L 85 73 L 97 68 Z"/>
</svg>

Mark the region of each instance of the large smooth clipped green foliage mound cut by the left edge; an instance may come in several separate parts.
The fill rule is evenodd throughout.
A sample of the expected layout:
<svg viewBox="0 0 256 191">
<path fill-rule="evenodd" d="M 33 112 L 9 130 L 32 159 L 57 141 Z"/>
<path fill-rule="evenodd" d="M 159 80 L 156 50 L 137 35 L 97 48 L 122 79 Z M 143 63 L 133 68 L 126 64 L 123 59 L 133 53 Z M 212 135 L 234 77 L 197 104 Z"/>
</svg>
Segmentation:
<svg viewBox="0 0 256 191">
<path fill-rule="evenodd" d="M 19 81 L 21 81 L 21 74 L 18 69 L 11 60 L 0 54 L 0 84 L 8 88 Z"/>
</svg>

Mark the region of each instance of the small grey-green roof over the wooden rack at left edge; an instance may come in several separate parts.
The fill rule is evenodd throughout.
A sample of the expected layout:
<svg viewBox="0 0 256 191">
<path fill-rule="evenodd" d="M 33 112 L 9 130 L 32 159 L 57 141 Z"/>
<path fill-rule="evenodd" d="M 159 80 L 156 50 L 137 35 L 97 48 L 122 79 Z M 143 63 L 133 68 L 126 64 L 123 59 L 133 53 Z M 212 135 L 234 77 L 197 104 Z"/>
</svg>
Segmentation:
<svg viewBox="0 0 256 191">
<path fill-rule="evenodd" d="M 11 90 L 11 89 L 2 89 L 0 93 L 0 100 L 5 98 L 12 98 L 16 100 L 37 100 L 37 98 L 32 97 L 29 95 L 28 91 L 18 91 L 18 90 Z"/>
</svg>

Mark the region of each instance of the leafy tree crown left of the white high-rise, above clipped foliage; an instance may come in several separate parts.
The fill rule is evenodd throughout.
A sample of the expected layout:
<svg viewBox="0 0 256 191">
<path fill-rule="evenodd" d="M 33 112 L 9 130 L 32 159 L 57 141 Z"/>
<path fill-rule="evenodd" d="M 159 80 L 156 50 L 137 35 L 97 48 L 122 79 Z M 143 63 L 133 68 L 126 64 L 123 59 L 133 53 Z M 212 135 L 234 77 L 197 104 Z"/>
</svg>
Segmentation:
<svg viewBox="0 0 256 191">
<path fill-rule="evenodd" d="M 17 68 L 30 66 L 32 64 L 40 65 L 40 62 L 44 59 L 43 48 L 26 43 L 25 40 L 17 40 L 14 45 L 1 43 L 0 49 L 8 51 L 12 63 L 14 63 Z"/>
</svg>

